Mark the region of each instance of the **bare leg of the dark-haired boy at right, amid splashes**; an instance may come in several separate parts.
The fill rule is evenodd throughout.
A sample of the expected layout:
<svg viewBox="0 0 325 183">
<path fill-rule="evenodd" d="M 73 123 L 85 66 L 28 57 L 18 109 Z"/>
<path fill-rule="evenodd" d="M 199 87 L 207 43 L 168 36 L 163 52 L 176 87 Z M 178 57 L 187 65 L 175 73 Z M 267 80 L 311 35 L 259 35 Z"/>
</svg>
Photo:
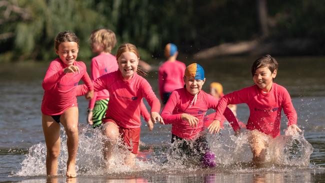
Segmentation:
<svg viewBox="0 0 325 183">
<path fill-rule="evenodd" d="M 261 165 L 265 161 L 266 146 L 263 135 L 251 131 L 248 135 L 251 152 L 253 153 L 252 161 L 255 165 Z"/>
</svg>

